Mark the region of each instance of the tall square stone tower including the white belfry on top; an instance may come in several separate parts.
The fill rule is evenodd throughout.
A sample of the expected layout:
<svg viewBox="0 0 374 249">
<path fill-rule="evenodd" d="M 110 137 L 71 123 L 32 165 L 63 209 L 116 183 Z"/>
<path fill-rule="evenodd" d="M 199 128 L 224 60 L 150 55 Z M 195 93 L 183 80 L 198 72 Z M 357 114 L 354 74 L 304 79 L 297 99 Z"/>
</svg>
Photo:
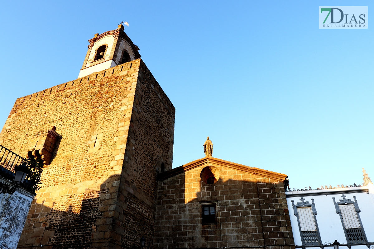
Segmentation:
<svg viewBox="0 0 374 249">
<path fill-rule="evenodd" d="M 18 248 L 152 248 L 175 108 L 123 26 L 89 40 L 79 78 L 16 100 L 0 144 L 45 161 Z"/>
</svg>

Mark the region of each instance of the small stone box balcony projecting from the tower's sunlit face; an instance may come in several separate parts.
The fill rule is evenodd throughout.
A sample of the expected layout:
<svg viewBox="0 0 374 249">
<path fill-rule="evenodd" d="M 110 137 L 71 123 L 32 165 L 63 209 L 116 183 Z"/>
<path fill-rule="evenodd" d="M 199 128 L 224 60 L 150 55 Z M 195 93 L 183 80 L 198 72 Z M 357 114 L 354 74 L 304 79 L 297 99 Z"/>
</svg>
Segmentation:
<svg viewBox="0 0 374 249">
<path fill-rule="evenodd" d="M 55 145 L 61 136 L 56 133 L 56 127 L 52 130 L 36 133 L 31 139 L 31 144 L 27 149 L 27 158 L 40 158 L 45 165 L 50 164 Z"/>
</svg>

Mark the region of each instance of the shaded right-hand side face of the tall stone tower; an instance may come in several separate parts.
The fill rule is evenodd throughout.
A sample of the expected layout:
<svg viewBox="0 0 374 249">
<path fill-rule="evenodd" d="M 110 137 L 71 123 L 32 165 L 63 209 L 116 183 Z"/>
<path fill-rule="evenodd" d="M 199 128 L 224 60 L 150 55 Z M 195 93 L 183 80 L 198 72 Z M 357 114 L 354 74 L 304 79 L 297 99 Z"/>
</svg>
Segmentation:
<svg viewBox="0 0 374 249">
<path fill-rule="evenodd" d="M 145 247 L 152 248 L 157 174 L 162 162 L 166 170 L 172 168 L 174 116 L 171 102 L 141 62 L 120 191 L 128 193 L 123 206 L 126 221 L 121 223 L 125 248 L 137 248 L 143 236 Z"/>
</svg>

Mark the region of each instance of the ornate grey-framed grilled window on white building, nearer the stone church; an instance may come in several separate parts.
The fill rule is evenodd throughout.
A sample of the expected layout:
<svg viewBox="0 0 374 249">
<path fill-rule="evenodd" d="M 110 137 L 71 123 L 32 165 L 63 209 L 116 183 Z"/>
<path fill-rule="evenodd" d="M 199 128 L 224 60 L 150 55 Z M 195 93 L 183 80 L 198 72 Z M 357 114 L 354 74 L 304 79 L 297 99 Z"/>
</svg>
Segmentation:
<svg viewBox="0 0 374 249">
<path fill-rule="evenodd" d="M 314 199 L 312 199 L 312 204 L 304 202 L 305 199 L 303 197 L 300 200 L 301 202 L 297 202 L 296 205 L 294 200 L 291 200 L 291 202 L 299 225 L 301 243 L 303 246 L 322 245 L 316 220 L 317 211 Z"/>
</svg>

